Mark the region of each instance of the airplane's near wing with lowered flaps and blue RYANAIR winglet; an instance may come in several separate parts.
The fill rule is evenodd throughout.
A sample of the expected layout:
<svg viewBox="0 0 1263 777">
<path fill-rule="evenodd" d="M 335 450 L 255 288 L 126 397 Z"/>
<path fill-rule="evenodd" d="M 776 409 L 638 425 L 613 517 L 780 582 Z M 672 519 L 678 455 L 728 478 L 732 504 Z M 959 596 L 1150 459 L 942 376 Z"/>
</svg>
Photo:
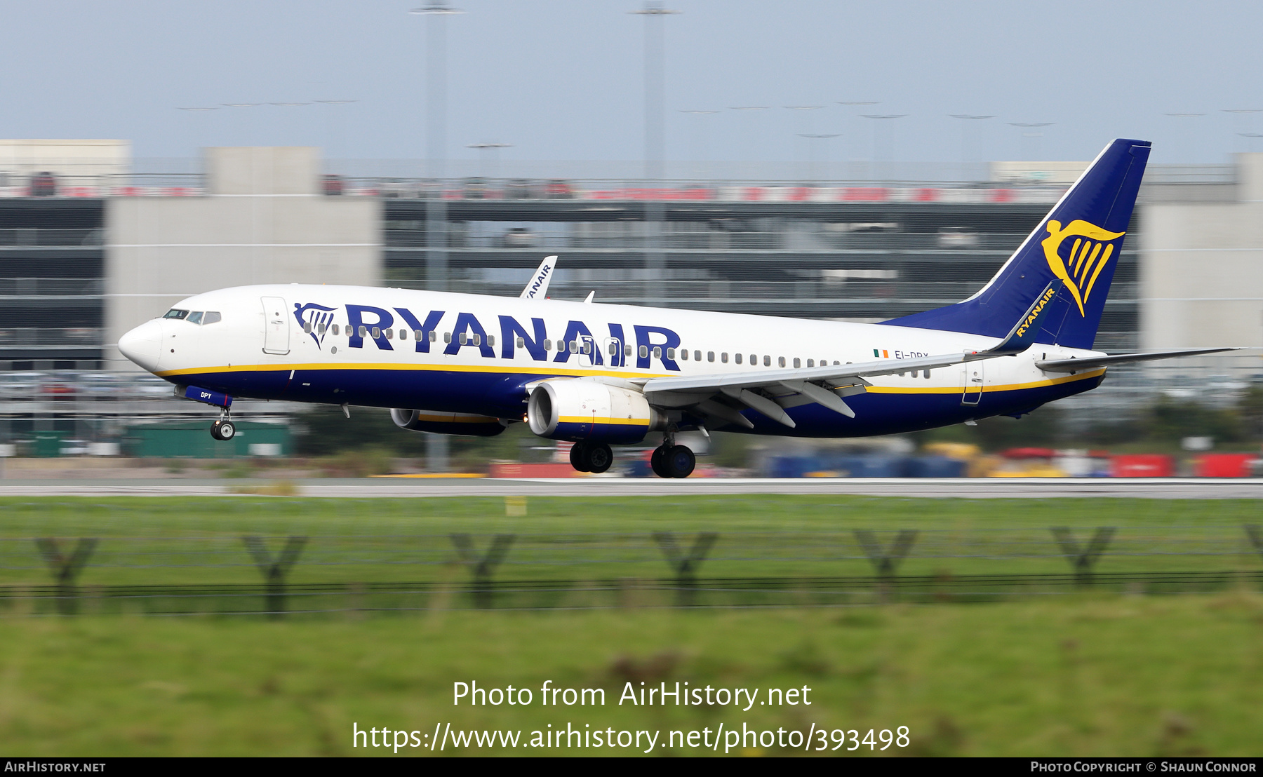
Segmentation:
<svg viewBox="0 0 1263 777">
<path fill-rule="evenodd" d="M 741 410 L 749 407 L 769 419 L 794 428 L 786 412 L 816 402 L 847 418 L 855 411 L 842 397 L 863 394 L 870 383 L 865 377 L 917 372 L 936 367 L 950 367 L 964 362 L 1000 356 L 1015 356 L 1034 343 L 1039 332 L 1038 322 L 1047 303 L 1057 295 L 1058 281 L 1052 281 L 1018 319 L 1009 334 L 998 346 L 986 351 L 967 351 L 943 356 L 918 358 L 880 359 L 850 365 L 831 365 L 798 370 L 758 370 L 706 375 L 696 377 L 654 377 L 644 382 L 644 394 L 650 404 L 664 407 L 688 407 L 693 412 L 721 420 L 753 426 Z"/>
</svg>

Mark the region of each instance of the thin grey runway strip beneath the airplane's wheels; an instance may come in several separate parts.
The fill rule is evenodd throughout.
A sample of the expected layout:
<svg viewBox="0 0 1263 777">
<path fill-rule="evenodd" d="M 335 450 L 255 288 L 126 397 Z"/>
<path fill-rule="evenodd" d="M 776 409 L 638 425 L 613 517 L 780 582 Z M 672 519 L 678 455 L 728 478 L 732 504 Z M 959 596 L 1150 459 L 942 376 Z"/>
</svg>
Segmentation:
<svg viewBox="0 0 1263 777">
<path fill-rule="evenodd" d="M 302 497 L 632 497 L 706 494 L 859 494 L 879 497 L 1050 500 L 1135 497 L 1149 500 L 1257 500 L 1263 478 L 426 478 L 288 481 Z M 266 479 L 0 481 L 0 497 L 273 496 Z"/>
</svg>

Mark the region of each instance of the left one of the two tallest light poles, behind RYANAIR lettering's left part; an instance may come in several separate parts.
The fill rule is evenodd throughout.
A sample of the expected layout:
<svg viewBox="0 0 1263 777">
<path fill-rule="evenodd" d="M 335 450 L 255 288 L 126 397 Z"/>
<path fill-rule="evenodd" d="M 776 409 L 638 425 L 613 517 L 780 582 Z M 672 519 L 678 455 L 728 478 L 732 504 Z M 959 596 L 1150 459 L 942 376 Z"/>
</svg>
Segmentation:
<svg viewBox="0 0 1263 777">
<path fill-rule="evenodd" d="M 447 290 L 447 202 L 443 199 L 443 160 L 447 158 L 447 47 L 446 19 L 460 14 L 445 0 L 432 0 L 429 5 L 412 9 L 413 14 L 427 16 L 426 33 L 429 50 L 426 66 L 426 154 L 428 175 L 433 184 L 427 187 L 426 199 L 426 283 L 431 290 Z M 431 434 L 426 438 L 427 465 L 433 472 L 447 470 L 447 436 Z"/>
</svg>

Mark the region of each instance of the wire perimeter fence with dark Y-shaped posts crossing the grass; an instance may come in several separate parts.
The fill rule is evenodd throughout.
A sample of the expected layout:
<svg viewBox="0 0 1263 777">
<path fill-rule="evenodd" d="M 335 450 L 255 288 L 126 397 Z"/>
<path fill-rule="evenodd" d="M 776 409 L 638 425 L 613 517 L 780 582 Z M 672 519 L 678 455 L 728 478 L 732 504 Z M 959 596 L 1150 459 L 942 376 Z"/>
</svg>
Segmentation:
<svg viewBox="0 0 1263 777">
<path fill-rule="evenodd" d="M 794 608 L 1263 584 L 1263 529 L 0 539 L 0 616 Z"/>
</svg>

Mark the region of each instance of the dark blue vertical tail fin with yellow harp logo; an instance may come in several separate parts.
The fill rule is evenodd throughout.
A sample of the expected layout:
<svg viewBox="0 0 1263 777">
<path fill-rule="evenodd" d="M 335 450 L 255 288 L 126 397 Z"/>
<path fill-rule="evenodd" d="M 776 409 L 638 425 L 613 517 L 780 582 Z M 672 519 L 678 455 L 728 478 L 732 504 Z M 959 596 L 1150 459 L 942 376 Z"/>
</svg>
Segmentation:
<svg viewBox="0 0 1263 777">
<path fill-rule="evenodd" d="M 1115 140 L 978 294 L 885 323 L 1004 337 L 1060 279 L 1036 342 L 1091 348 L 1148 159 L 1147 140 Z"/>
</svg>

